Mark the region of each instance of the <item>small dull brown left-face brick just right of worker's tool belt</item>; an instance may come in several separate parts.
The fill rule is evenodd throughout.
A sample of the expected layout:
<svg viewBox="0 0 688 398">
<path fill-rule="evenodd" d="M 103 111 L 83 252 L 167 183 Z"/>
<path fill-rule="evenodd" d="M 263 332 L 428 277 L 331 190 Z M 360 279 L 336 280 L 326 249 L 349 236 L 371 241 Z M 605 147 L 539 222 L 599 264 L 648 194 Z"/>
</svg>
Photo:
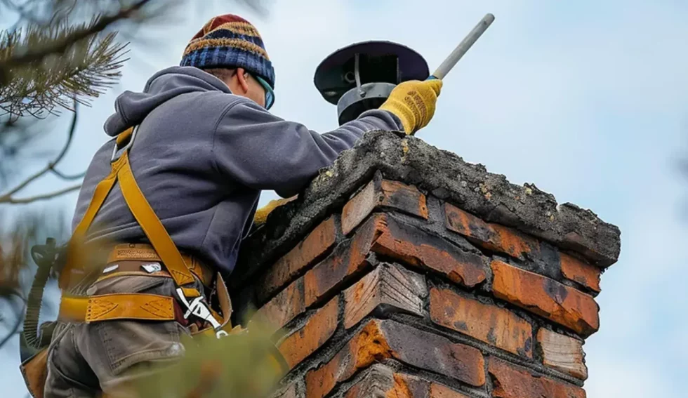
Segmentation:
<svg viewBox="0 0 688 398">
<path fill-rule="evenodd" d="M 303 279 L 297 279 L 263 305 L 256 312 L 256 318 L 270 325 L 274 332 L 305 310 Z"/>
</svg>

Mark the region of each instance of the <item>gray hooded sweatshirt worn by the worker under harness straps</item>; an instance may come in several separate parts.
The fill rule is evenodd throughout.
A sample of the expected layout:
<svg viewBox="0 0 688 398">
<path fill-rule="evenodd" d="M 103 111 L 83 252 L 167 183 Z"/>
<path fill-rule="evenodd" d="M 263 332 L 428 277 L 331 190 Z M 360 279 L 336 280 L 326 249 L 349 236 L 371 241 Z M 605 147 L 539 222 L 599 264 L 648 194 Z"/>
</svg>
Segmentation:
<svg viewBox="0 0 688 398">
<path fill-rule="evenodd" d="M 239 243 L 251 227 L 260 190 L 297 194 L 366 131 L 402 130 L 390 112 L 373 110 L 322 135 L 279 119 L 233 95 L 222 81 L 194 67 L 155 74 L 143 93 L 125 91 L 105 122 L 114 137 L 140 125 L 130 151 L 144 196 L 173 241 L 229 277 Z M 114 140 L 95 153 L 79 192 L 76 227 L 93 190 L 110 173 Z M 146 241 L 115 185 L 88 240 Z"/>
</svg>

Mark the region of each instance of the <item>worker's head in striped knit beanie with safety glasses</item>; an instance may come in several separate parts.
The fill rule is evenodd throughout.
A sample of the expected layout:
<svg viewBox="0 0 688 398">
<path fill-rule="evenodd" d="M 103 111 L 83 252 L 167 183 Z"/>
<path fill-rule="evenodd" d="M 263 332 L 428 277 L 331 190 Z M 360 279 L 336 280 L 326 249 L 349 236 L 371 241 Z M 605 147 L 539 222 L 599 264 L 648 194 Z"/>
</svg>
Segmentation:
<svg viewBox="0 0 688 398">
<path fill-rule="evenodd" d="M 192 66 L 222 80 L 236 95 L 270 109 L 274 69 L 258 29 L 237 15 L 209 20 L 186 46 L 181 66 Z"/>
</svg>

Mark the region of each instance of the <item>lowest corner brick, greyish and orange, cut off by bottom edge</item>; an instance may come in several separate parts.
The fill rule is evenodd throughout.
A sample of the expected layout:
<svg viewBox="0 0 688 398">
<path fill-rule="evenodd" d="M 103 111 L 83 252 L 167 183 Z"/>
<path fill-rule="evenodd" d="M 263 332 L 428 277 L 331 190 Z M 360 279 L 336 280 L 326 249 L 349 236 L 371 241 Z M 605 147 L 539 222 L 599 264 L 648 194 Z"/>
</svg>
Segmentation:
<svg viewBox="0 0 688 398">
<path fill-rule="evenodd" d="M 361 380 L 350 387 L 345 398 L 468 398 L 444 385 L 417 376 L 395 373 L 376 364 Z"/>
</svg>

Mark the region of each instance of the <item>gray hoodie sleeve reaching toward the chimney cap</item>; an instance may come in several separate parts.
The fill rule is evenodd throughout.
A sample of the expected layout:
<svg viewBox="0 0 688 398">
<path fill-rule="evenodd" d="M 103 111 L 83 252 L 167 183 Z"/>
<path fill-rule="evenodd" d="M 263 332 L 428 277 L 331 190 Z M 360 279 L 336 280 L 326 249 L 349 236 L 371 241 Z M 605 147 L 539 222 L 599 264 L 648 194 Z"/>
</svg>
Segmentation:
<svg viewBox="0 0 688 398">
<path fill-rule="evenodd" d="M 320 168 L 352 147 L 366 131 L 403 130 L 397 117 L 371 110 L 329 133 L 285 121 L 251 100 L 225 109 L 213 138 L 213 156 L 223 175 L 281 197 L 297 194 Z"/>
</svg>

